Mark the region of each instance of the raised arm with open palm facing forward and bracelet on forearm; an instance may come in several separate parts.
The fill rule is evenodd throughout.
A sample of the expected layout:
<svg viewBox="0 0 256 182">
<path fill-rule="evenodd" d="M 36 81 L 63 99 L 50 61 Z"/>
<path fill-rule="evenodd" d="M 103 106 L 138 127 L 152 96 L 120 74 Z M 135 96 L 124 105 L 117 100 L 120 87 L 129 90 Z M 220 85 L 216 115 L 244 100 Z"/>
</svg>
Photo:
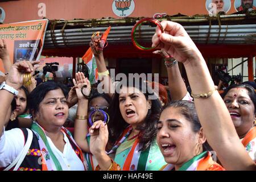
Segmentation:
<svg viewBox="0 0 256 182">
<path fill-rule="evenodd" d="M 90 81 L 85 78 L 84 73 L 78 72 L 76 73 L 76 80 L 73 79 L 73 83 L 78 98 L 74 139 L 82 151 L 90 152 L 89 144 L 86 140 L 86 135 L 88 134 L 88 98 L 83 96 L 83 94 L 85 96 L 89 96 L 90 94 Z"/>
</svg>

